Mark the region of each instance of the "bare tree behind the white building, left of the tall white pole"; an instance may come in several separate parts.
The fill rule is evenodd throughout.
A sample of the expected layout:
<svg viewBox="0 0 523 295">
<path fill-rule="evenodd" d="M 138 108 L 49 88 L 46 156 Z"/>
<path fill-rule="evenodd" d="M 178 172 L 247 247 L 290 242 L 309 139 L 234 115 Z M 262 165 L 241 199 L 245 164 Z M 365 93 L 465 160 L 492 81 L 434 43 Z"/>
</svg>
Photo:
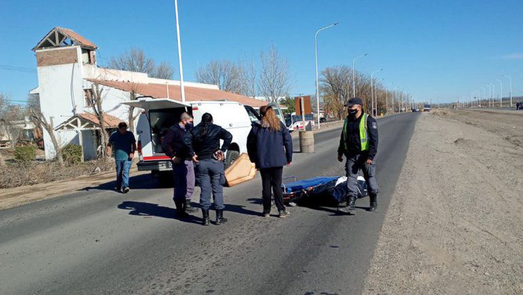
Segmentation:
<svg viewBox="0 0 523 295">
<path fill-rule="evenodd" d="M 147 73 L 150 77 L 161 79 L 172 79 L 174 74 L 168 63 L 162 62 L 156 66 L 155 61 L 147 57 L 141 48 L 131 48 L 117 58 L 112 57 L 108 66 L 117 70 Z"/>
</svg>

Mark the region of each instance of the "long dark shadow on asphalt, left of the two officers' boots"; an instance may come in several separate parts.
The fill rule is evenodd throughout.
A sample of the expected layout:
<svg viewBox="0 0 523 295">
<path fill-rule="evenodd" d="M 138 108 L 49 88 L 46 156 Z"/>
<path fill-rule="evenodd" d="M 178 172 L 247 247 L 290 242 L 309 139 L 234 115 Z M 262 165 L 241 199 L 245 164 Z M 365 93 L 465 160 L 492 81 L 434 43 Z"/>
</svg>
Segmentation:
<svg viewBox="0 0 523 295">
<path fill-rule="evenodd" d="M 198 224 L 202 223 L 203 221 L 201 218 L 196 217 L 195 215 L 189 215 L 188 217 L 177 217 L 176 210 L 173 208 L 158 206 L 158 204 L 146 202 L 124 201 L 118 205 L 118 209 L 130 210 L 129 215 L 155 216 Z"/>
</svg>

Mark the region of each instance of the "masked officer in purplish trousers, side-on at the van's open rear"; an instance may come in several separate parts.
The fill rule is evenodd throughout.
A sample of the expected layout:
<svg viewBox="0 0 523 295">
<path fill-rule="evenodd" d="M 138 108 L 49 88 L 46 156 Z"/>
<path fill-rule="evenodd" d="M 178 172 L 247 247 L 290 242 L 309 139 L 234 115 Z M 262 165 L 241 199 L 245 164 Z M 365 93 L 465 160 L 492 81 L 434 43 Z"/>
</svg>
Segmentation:
<svg viewBox="0 0 523 295">
<path fill-rule="evenodd" d="M 162 150 L 173 164 L 173 200 L 178 217 L 186 217 L 189 213 L 197 211 L 191 205 L 192 193 L 195 190 L 194 164 L 183 142 L 190 128 L 192 128 L 192 117 L 187 112 L 183 112 L 179 122 L 169 128 L 162 141 Z"/>
</svg>

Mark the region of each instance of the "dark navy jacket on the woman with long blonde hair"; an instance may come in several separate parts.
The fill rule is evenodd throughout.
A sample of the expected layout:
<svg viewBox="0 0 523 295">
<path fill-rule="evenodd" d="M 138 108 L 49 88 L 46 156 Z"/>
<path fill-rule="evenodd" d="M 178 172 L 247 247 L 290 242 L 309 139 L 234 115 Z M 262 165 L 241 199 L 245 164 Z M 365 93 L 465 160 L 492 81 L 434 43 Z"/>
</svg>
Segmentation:
<svg viewBox="0 0 523 295">
<path fill-rule="evenodd" d="M 247 137 L 247 152 L 257 169 L 283 167 L 292 162 L 292 138 L 285 124 L 280 131 L 270 131 L 253 123 Z"/>
</svg>

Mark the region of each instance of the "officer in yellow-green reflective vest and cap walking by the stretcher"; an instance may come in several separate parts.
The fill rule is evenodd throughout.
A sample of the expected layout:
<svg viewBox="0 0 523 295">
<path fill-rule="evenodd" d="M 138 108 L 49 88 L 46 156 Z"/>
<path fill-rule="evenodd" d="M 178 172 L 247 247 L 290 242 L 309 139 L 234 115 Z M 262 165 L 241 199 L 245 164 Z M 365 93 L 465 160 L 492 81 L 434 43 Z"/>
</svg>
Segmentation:
<svg viewBox="0 0 523 295">
<path fill-rule="evenodd" d="M 374 157 L 378 151 L 378 124 L 376 120 L 363 112 L 363 101 L 354 97 L 349 99 L 347 106 L 349 115 L 343 124 L 342 136 L 339 139 L 338 161 L 347 158 L 345 171 L 347 173 L 348 201 L 347 206 L 338 209 L 340 213 L 356 214 L 355 202 L 358 197 L 357 177 L 360 169 L 367 181 L 369 191 L 369 211 L 378 208 L 378 183 L 376 181 L 376 164 Z"/>
</svg>

